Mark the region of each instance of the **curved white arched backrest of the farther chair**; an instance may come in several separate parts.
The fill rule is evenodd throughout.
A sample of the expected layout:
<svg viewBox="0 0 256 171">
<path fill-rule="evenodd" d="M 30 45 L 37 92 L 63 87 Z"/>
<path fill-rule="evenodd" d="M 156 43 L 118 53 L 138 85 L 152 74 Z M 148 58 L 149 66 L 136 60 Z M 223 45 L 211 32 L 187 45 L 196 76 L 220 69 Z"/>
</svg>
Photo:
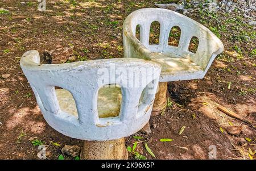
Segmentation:
<svg viewBox="0 0 256 171">
<path fill-rule="evenodd" d="M 150 26 L 154 21 L 160 23 L 159 44 L 150 45 Z M 135 37 L 137 26 L 140 27 L 139 41 Z M 174 26 L 180 27 L 181 30 L 178 47 L 168 45 L 170 31 Z M 192 37 L 199 39 L 196 53 L 188 51 Z M 203 69 L 207 69 L 214 57 L 223 51 L 223 44 L 208 28 L 187 16 L 166 9 L 147 8 L 132 12 L 123 23 L 123 41 L 125 57 L 132 57 L 131 50 L 136 51 L 137 49 L 138 52 L 142 52 L 143 49 L 146 52 L 144 53 L 146 57 L 142 58 L 148 59 L 150 54 L 147 49 L 149 49 L 151 52 L 172 53 L 174 56 L 185 57 Z M 139 47 L 138 44 L 147 49 Z M 142 53 L 138 53 L 138 55 L 143 55 Z"/>
</svg>

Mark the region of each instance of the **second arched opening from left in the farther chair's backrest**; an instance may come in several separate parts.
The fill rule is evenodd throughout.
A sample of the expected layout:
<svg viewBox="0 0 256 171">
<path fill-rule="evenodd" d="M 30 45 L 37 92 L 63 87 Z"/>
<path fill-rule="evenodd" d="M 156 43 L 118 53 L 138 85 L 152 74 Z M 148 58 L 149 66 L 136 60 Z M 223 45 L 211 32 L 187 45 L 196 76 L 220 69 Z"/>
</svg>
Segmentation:
<svg viewBox="0 0 256 171">
<path fill-rule="evenodd" d="M 150 26 L 149 44 L 159 44 L 160 23 L 154 21 Z"/>
</svg>

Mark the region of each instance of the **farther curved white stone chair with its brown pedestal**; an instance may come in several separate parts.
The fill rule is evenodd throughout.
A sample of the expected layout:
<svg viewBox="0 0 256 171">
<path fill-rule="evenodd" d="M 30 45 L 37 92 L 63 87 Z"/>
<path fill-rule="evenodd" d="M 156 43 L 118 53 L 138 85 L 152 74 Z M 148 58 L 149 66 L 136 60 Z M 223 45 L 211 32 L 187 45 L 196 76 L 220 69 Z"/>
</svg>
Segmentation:
<svg viewBox="0 0 256 171">
<path fill-rule="evenodd" d="M 160 23 L 159 44 L 149 44 L 150 26 L 154 21 Z M 137 26 L 140 27 L 140 40 L 135 36 Z M 177 47 L 168 45 L 168 37 L 174 26 L 181 30 Z M 199 39 L 196 53 L 188 51 L 192 37 Z M 195 20 L 175 11 L 148 8 L 134 11 L 125 19 L 123 49 L 125 57 L 151 60 L 162 65 L 160 92 L 156 94 L 153 107 L 154 115 L 158 115 L 167 103 L 167 82 L 204 78 L 214 58 L 224 47 L 208 28 Z"/>
</svg>

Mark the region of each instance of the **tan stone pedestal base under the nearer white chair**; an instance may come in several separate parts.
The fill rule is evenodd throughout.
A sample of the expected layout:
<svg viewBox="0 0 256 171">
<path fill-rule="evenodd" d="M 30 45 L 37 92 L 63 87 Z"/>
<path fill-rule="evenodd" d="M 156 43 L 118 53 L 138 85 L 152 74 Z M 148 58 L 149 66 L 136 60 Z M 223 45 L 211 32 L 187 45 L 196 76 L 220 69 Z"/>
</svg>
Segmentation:
<svg viewBox="0 0 256 171">
<path fill-rule="evenodd" d="M 80 159 L 126 160 L 125 138 L 110 141 L 84 141 Z"/>
</svg>

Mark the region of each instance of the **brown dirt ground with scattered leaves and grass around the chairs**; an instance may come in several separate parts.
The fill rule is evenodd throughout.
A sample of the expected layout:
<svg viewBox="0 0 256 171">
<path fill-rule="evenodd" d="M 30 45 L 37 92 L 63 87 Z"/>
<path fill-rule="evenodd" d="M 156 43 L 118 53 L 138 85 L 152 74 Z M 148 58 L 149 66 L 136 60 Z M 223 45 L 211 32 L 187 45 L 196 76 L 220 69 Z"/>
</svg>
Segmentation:
<svg viewBox="0 0 256 171">
<path fill-rule="evenodd" d="M 154 2 L 53 0 L 47 1 L 45 12 L 37 10 L 37 1 L 23 2 L 0 2 L 0 8 L 9 10 L 7 14 L 0 12 L 0 74 L 10 74 L 0 78 L 0 159 L 38 159 L 39 149 L 32 140 L 46 145 L 47 159 L 58 159 L 64 145 L 82 147 L 82 140 L 48 126 L 20 69 L 20 57 L 31 49 L 42 54 L 59 48 L 72 49 L 63 62 L 122 57 L 123 20 L 134 10 L 154 7 Z M 143 137 L 139 140 L 127 137 L 126 145 L 137 141 L 136 151 L 147 159 L 154 157 L 144 143 L 156 159 L 209 159 L 210 145 L 216 145 L 217 159 L 253 159 L 255 156 L 249 154 L 256 150 L 255 128 L 225 115 L 216 106 L 221 104 L 256 126 L 256 31 L 234 13 L 198 9 L 186 15 L 219 36 L 225 51 L 216 57 L 204 79 L 170 82 L 167 110 L 151 118 L 152 133 L 138 132 L 135 135 Z M 150 41 L 157 42 L 158 36 L 156 26 Z M 174 30 L 170 43 L 177 44 L 177 37 L 179 32 Z M 196 41 L 189 48 L 195 46 Z M 232 125 L 241 126 L 240 135 L 227 132 Z M 185 130 L 179 135 L 183 126 Z M 159 141 L 164 138 L 173 141 Z M 133 153 L 129 159 L 134 159 Z"/>
</svg>

